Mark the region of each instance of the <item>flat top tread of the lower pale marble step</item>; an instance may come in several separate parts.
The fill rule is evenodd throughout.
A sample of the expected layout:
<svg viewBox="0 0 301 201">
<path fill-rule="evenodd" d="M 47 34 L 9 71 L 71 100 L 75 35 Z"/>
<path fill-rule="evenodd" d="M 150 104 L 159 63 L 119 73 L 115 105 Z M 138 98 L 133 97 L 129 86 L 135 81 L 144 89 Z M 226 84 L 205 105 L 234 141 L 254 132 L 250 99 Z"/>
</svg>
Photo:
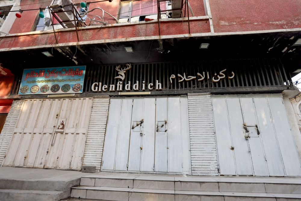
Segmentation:
<svg viewBox="0 0 301 201">
<path fill-rule="evenodd" d="M 135 193 L 159 193 L 176 195 L 206 195 L 206 196 L 239 196 L 239 197 L 270 197 L 270 198 L 295 198 L 301 199 L 301 194 L 286 193 L 242 193 L 242 192 L 216 192 L 216 191 L 184 191 L 184 190 L 157 190 L 157 189 L 137 189 L 137 188 L 117 188 L 117 187 L 91 187 L 76 186 L 72 190 L 101 190 L 101 191 L 123 191 Z"/>
</svg>

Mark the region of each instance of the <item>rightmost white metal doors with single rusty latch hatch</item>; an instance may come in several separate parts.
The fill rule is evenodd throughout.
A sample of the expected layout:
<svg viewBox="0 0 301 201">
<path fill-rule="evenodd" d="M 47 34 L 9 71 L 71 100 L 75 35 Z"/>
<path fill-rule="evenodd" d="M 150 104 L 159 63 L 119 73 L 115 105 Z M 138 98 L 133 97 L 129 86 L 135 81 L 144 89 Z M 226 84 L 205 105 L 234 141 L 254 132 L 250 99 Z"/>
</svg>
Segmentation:
<svg viewBox="0 0 301 201">
<path fill-rule="evenodd" d="M 281 94 L 211 97 L 221 175 L 301 175 Z"/>
</svg>

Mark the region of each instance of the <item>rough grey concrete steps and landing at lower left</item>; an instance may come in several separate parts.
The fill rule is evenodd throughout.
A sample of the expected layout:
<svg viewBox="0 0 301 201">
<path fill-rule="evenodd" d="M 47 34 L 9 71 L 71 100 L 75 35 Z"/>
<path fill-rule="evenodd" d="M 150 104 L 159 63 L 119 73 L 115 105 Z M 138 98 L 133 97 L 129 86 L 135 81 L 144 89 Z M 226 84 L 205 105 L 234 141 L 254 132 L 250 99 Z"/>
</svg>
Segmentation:
<svg viewBox="0 0 301 201">
<path fill-rule="evenodd" d="M 70 196 L 71 187 L 79 185 L 79 171 L 0 167 L 0 200 L 58 201 Z"/>
</svg>

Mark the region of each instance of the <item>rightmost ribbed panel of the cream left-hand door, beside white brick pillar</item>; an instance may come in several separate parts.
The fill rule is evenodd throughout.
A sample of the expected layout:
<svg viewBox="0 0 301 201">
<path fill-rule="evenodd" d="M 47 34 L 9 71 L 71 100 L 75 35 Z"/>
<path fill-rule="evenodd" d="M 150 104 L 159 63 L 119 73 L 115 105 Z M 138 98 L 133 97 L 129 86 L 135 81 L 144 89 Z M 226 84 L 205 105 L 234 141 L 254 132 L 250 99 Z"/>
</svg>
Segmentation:
<svg viewBox="0 0 301 201">
<path fill-rule="evenodd" d="M 92 98 L 82 98 L 82 106 L 76 126 L 75 139 L 72 146 L 72 155 L 69 166 L 70 169 L 81 169 L 92 102 Z"/>
</svg>

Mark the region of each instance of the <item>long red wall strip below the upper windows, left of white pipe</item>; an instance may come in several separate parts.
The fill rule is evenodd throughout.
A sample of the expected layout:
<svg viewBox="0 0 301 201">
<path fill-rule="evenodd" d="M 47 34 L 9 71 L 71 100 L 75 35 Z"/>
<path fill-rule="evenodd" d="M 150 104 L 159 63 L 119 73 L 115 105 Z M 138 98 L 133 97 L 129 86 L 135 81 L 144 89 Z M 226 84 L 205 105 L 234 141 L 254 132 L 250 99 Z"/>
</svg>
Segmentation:
<svg viewBox="0 0 301 201">
<path fill-rule="evenodd" d="M 190 33 L 206 33 L 210 32 L 209 21 L 191 21 Z M 140 24 L 120 27 L 105 27 L 90 30 L 79 30 L 79 41 L 115 39 L 115 38 L 131 38 L 155 36 L 158 33 L 158 24 Z M 186 22 L 168 22 L 160 24 L 161 35 L 188 34 L 188 23 Z M 76 32 L 59 32 L 56 33 L 58 43 L 77 42 Z M 26 37 L 26 39 L 22 39 Z M 17 39 L 17 40 L 16 40 Z M 37 45 L 54 44 L 54 34 L 36 34 L 31 36 L 6 37 L 0 43 L 0 49 L 12 47 L 28 47 Z"/>
</svg>

